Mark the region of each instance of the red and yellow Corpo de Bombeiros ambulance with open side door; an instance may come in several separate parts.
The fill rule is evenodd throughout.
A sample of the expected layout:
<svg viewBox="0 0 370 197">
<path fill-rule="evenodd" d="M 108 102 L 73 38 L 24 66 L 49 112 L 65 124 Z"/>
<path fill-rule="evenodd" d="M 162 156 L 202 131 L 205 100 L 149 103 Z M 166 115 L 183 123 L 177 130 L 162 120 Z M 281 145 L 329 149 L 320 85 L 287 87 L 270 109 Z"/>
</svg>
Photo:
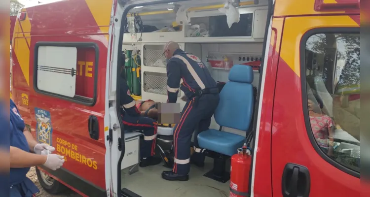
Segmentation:
<svg viewBox="0 0 370 197">
<path fill-rule="evenodd" d="M 66 159 L 56 171 L 37 166 L 47 192 L 68 187 L 86 197 L 360 196 L 360 1 L 224 3 L 61 0 L 20 10 L 11 38 L 11 97 L 37 140 Z M 253 71 L 257 91 L 249 93 L 256 96 L 247 106 L 253 112 L 241 112 L 254 114 L 252 130 L 220 131 L 252 139 L 242 182 L 230 184 L 230 156 L 211 150 L 203 168 L 191 165 L 187 182 L 161 179 L 161 165 L 137 166 L 141 133 L 124 132 L 117 80 L 124 65 L 133 97 L 166 102 L 161 53 L 168 41 L 201 58 L 221 83 L 228 83 L 232 65 L 212 67 L 212 61 L 261 61 L 260 71 Z M 246 105 L 239 96 L 228 97 L 236 111 Z M 210 129 L 220 126 L 213 120 Z M 158 141 L 171 143 L 171 125 L 161 132 Z M 214 166 L 220 162 L 226 165 L 222 175 Z M 238 193 L 240 188 L 247 192 Z"/>
</svg>

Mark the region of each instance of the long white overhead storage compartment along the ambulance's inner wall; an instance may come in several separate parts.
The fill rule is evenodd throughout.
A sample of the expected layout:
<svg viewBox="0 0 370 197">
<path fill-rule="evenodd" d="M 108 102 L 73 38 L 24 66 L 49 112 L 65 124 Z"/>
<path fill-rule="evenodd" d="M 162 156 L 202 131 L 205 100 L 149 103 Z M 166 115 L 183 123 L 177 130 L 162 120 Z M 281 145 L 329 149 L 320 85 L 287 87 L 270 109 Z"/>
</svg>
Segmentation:
<svg viewBox="0 0 370 197">
<path fill-rule="evenodd" d="M 261 6 L 238 7 L 240 20 L 233 23 L 230 28 L 226 22 L 227 16 L 218 9 L 198 10 L 187 5 L 186 15 L 190 25 L 181 25 L 180 21 L 185 19 L 178 18 L 177 21 L 177 13 L 172 10 L 173 5 L 136 8 L 135 12 L 140 12 L 139 16 L 128 17 L 129 25 L 126 27 L 123 40 L 128 43 L 165 43 L 170 40 L 182 43 L 209 43 L 241 39 L 243 42 L 261 42 L 266 27 L 267 7 L 261 3 L 259 5 Z"/>
</svg>

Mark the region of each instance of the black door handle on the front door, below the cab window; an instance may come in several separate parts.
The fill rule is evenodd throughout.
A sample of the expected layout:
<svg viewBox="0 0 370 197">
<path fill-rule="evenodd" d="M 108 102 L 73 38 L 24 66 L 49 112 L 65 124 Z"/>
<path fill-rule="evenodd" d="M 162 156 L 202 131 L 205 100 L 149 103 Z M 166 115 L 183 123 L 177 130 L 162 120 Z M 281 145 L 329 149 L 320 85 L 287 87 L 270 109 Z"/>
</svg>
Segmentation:
<svg viewBox="0 0 370 197">
<path fill-rule="evenodd" d="M 283 197 L 308 197 L 310 194 L 310 173 L 307 167 L 286 164 L 281 186 Z"/>
</svg>

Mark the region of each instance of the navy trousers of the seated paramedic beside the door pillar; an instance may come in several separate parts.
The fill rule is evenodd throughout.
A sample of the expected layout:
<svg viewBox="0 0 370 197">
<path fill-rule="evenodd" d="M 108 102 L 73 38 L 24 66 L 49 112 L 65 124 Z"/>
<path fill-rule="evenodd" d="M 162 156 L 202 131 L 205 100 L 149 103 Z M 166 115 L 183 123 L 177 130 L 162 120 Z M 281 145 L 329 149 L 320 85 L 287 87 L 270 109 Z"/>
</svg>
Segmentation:
<svg viewBox="0 0 370 197">
<path fill-rule="evenodd" d="M 157 137 L 157 122 L 144 116 L 129 116 L 127 113 L 122 117 L 124 129 L 141 130 L 144 132 L 144 143 L 141 147 L 141 158 L 154 155 L 155 141 Z"/>
</svg>

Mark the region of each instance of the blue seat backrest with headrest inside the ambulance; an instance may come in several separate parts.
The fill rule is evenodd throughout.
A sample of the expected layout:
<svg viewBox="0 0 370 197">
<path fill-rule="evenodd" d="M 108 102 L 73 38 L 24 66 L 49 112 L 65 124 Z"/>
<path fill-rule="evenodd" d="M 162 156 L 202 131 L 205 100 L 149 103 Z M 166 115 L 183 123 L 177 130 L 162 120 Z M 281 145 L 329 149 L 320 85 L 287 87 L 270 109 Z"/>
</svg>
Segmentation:
<svg viewBox="0 0 370 197">
<path fill-rule="evenodd" d="M 253 114 L 253 69 L 234 65 L 228 79 L 220 93 L 215 120 L 220 126 L 247 131 Z"/>
</svg>

